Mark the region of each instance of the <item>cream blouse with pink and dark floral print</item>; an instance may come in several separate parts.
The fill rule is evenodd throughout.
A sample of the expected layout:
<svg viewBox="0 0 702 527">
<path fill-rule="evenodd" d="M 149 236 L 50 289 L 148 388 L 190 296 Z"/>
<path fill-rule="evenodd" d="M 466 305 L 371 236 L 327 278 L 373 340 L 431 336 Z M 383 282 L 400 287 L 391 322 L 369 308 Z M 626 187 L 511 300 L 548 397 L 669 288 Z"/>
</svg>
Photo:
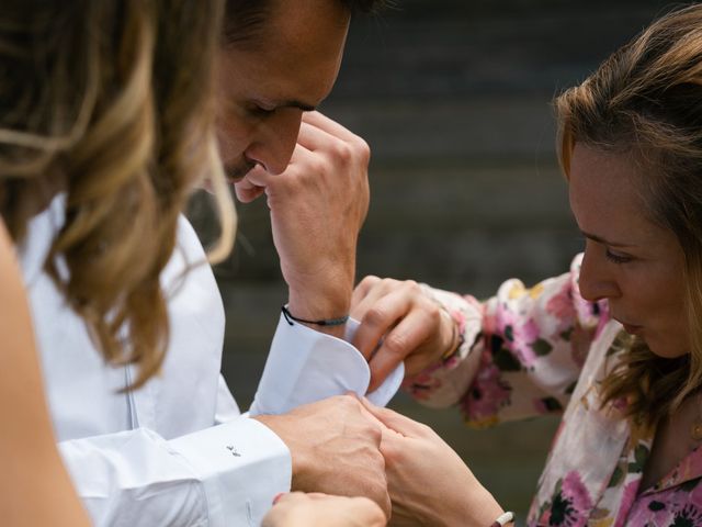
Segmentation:
<svg viewBox="0 0 702 527">
<path fill-rule="evenodd" d="M 586 302 L 570 272 L 525 289 L 505 282 L 480 303 L 427 288 L 465 337 L 443 363 L 408 379 L 430 406 L 457 404 L 476 427 L 548 413 L 563 418 L 532 502 L 529 526 L 702 526 L 702 447 L 639 491 L 655 430 L 636 430 L 622 404 L 601 408 L 622 330 L 607 303 Z"/>
</svg>

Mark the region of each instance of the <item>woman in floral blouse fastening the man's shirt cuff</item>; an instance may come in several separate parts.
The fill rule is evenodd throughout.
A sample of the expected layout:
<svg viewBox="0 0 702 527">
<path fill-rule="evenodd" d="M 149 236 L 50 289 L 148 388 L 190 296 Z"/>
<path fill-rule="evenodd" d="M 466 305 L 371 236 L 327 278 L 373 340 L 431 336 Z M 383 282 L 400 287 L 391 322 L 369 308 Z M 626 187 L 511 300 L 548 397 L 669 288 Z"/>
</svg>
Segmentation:
<svg viewBox="0 0 702 527">
<path fill-rule="evenodd" d="M 370 357 L 385 335 L 374 383 L 404 360 L 417 400 L 471 424 L 563 414 L 528 525 L 702 525 L 702 5 L 654 22 L 555 106 L 585 254 L 484 302 L 366 278 L 355 343 Z M 463 525 L 441 518 L 475 513 L 467 468 L 438 438 L 431 467 L 400 442 L 394 517 Z"/>
</svg>

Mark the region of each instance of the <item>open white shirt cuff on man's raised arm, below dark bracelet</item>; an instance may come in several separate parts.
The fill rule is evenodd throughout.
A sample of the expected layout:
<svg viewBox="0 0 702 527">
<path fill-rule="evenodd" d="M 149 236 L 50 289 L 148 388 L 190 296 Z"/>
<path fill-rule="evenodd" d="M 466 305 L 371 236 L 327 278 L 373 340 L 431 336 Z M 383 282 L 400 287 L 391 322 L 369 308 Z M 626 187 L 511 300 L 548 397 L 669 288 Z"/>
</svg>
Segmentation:
<svg viewBox="0 0 702 527">
<path fill-rule="evenodd" d="M 281 414 L 348 392 L 385 406 L 403 382 L 405 366 L 400 363 L 377 390 L 366 394 L 371 369 L 347 341 L 358 327 L 356 321 L 349 319 L 342 340 L 304 324 L 291 325 L 281 315 L 250 414 Z"/>
</svg>

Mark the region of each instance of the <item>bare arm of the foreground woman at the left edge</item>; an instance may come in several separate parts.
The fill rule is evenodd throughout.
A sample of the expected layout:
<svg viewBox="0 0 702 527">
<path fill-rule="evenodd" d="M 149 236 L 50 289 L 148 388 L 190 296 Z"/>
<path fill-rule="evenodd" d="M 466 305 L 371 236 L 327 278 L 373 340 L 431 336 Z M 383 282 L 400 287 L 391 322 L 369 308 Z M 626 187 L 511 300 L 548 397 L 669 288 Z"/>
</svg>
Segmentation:
<svg viewBox="0 0 702 527">
<path fill-rule="evenodd" d="M 54 442 L 20 268 L 1 222 L 0 335 L 2 523 L 12 527 L 88 526 Z"/>
</svg>

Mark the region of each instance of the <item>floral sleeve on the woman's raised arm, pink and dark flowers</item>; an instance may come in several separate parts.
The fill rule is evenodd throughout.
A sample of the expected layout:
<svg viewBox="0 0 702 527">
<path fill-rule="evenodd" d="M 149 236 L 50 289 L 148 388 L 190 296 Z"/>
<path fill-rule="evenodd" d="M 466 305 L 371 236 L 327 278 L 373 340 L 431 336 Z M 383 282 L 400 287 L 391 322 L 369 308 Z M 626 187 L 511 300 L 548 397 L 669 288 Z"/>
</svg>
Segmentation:
<svg viewBox="0 0 702 527">
<path fill-rule="evenodd" d="M 485 302 L 426 287 L 463 341 L 440 365 L 406 379 L 405 389 L 429 406 L 457 404 L 474 427 L 561 412 L 609 318 L 604 303 L 580 295 L 580 261 L 578 255 L 569 272 L 531 289 L 508 280 Z"/>
</svg>

